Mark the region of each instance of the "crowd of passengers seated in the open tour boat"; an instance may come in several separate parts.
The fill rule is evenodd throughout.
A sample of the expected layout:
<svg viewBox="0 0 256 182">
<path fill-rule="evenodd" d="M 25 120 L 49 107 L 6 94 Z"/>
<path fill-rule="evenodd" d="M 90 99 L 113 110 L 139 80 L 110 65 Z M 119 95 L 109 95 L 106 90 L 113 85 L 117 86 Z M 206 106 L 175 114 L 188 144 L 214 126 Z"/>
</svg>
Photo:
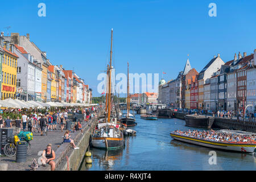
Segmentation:
<svg viewBox="0 0 256 182">
<path fill-rule="evenodd" d="M 193 137 L 199 139 L 210 140 L 214 142 L 250 142 L 251 140 L 255 140 L 255 135 L 252 137 L 240 134 L 229 134 L 229 133 L 220 133 L 218 131 L 209 130 L 209 131 L 197 131 L 197 130 L 188 130 L 188 131 L 180 131 L 175 130 L 176 134 Z"/>
</svg>

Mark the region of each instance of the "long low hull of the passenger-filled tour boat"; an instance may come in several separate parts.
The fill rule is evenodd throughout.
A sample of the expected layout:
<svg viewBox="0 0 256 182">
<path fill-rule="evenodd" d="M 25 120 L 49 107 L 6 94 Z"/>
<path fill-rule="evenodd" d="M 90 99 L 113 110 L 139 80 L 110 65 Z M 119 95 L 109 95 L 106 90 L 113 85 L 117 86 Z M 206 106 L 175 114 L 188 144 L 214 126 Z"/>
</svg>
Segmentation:
<svg viewBox="0 0 256 182">
<path fill-rule="evenodd" d="M 204 146 L 209 148 L 217 148 L 220 150 L 253 153 L 256 148 L 256 142 L 254 144 L 251 144 L 251 143 L 249 144 L 247 142 L 214 142 L 210 140 L 177 135 L 174 133 L 171 133 L 170 135 L 175 140 L 179 140 L 181 142 L 197 144 L 199 146 Z"/>
</svg>

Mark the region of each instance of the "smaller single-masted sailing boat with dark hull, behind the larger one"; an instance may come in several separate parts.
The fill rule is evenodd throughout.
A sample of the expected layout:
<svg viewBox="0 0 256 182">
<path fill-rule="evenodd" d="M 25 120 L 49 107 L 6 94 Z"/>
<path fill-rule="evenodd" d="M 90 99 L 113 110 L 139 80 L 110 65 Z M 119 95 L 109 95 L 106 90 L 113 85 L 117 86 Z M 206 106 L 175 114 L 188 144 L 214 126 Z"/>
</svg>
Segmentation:
<svg viewBox="0 0 256 182">
<path fill-rule="evenodd" d="M 130 94 L 129 94 L 129 63 L 127 63 L 127 113 L 125 113 L 121 118 L 121 123 L 126 124 L 126 126 L 135 126 L 137 123 L 135 122 L 134 114 L 130 113 Z"/>
</svg>

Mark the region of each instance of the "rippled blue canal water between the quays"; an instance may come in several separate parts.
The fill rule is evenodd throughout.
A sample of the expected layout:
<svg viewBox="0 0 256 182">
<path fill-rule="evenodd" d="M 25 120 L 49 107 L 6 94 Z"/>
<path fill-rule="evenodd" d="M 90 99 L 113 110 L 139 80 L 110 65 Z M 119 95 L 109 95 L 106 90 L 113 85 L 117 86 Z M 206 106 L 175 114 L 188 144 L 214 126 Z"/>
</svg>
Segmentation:
<svg viewBox="0 0 256 182">
<path fill-rule="evenodd" d="M 135 115 L 136 137 L 126 137 L 125 147 L 117 151 L 90 148 L 92 164 L 81 164 L 80 170 L 255 170 L 256 155 L 226 152 L 179 142 L 170 137 L 174 130 L 195 129 L 185 126 L 181 119 L 156 121 Z M 200 129 L 197 129 L 200 130 Z M 209 164 L 210 151 L 216 151 L 216 164 Z M 210 160 L 212 161 L 212 160 Z"/>
</svg>

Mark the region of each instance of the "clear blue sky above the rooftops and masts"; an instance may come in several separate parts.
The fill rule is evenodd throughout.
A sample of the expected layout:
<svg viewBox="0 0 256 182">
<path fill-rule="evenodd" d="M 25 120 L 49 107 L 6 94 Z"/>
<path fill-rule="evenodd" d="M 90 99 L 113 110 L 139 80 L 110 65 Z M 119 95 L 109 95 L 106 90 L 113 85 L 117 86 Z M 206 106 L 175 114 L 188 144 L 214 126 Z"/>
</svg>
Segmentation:
<svg viewBox="0 0 256 182">
<path fill-rule="evenodd" d="M 46 4 L 46 17 L 38 4 Z M 210 17 L 209 3 L 217 17 Z M 30 34 L 53 64 L 74 69 L 97 93 L 97 75 L 109 61 L 113 28 L 113 61 L 117 73 L 159 73 L 176 78 L 187 55 L 198 72 L 214 55 L 226 62 L 238 51 L 256 48 L 256 1 L 3 1 L 0 31 Z"/>
</svg>

